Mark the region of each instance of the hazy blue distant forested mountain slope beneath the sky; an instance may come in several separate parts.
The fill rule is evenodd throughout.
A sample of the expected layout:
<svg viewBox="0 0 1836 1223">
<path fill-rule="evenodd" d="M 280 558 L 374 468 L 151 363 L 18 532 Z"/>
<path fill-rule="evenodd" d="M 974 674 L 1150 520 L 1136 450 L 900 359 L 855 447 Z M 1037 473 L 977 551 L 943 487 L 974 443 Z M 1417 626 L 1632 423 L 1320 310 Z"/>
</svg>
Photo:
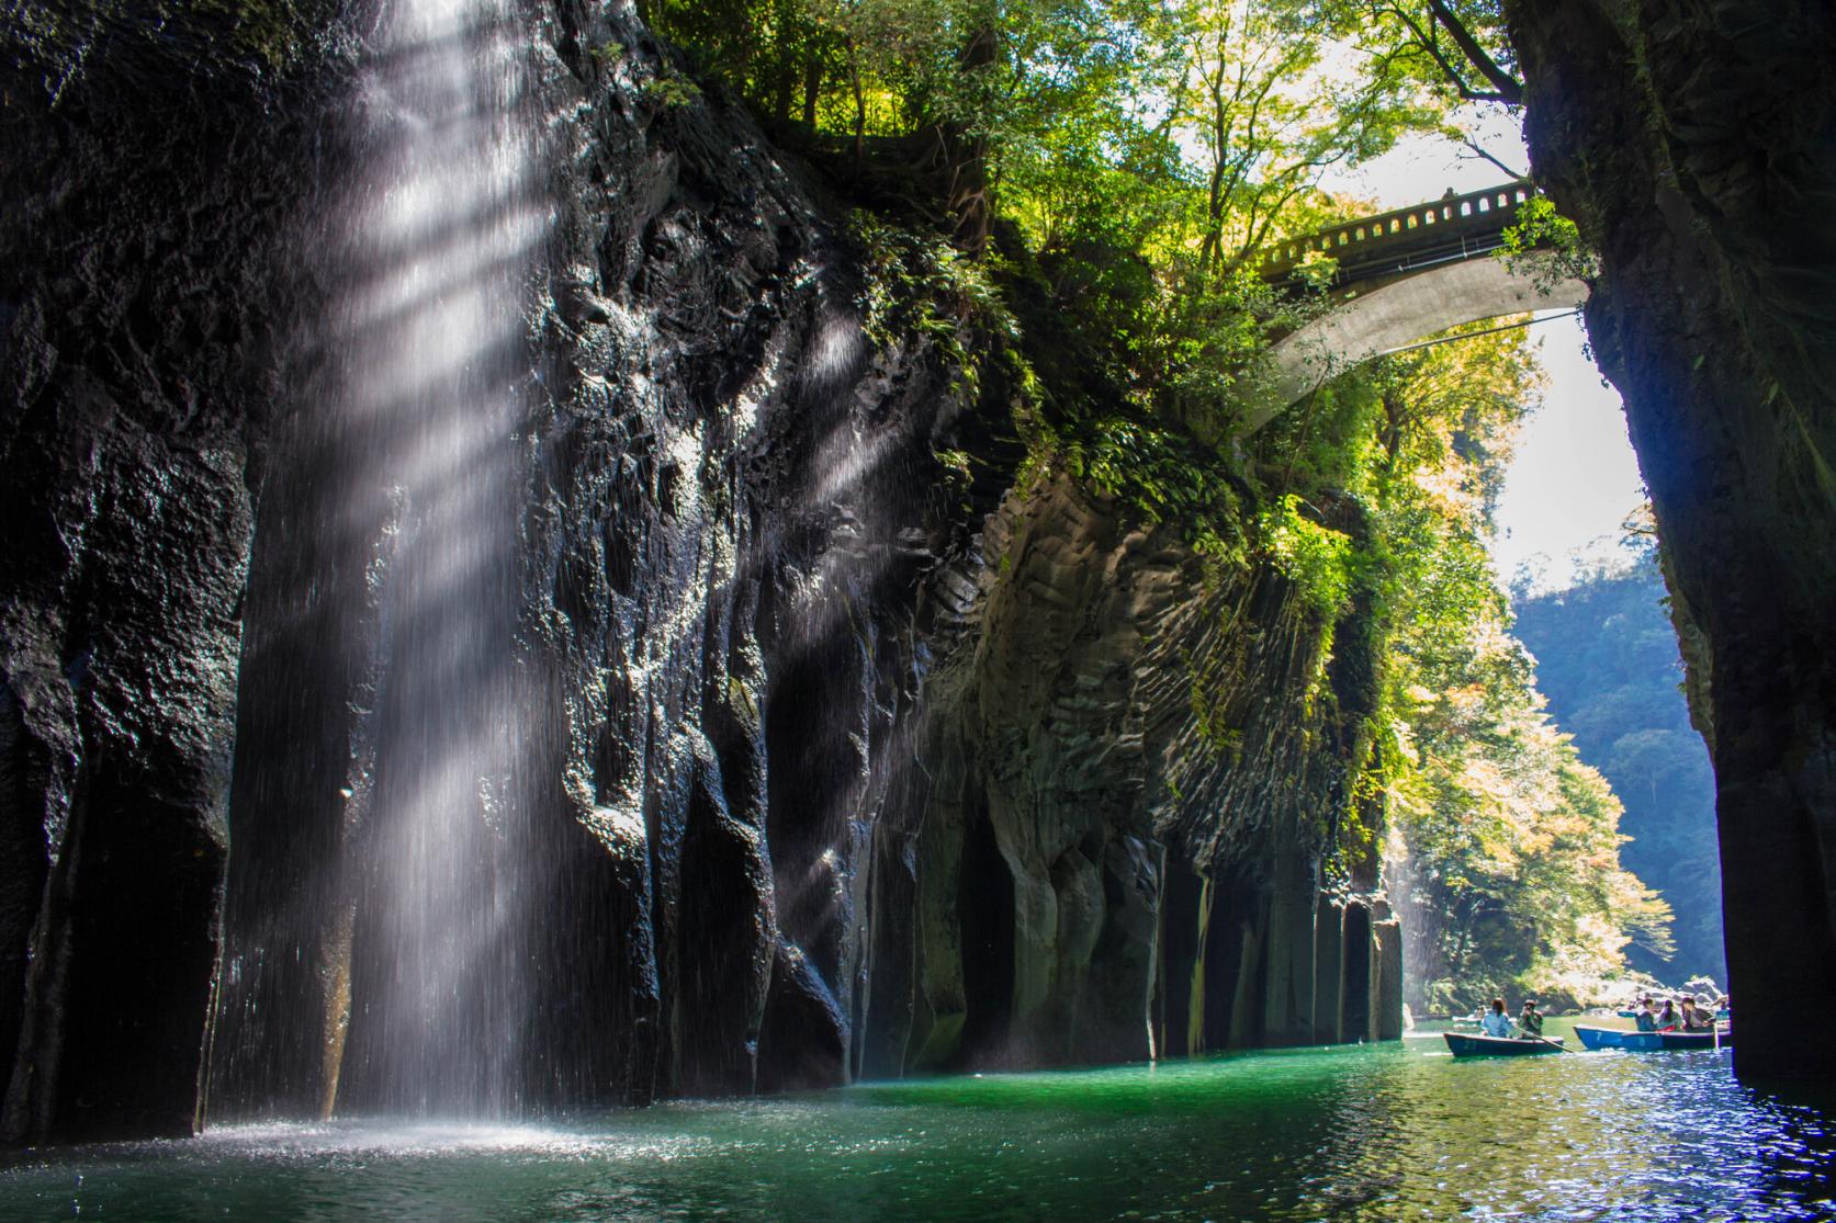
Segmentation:
<svg viewBox="0 0 1836 1223">
<path fill-rule="evenodd" d="M 1632 948 L 1662 981 L 1707 973 L 1726 982 L 1715 779 L 1689 725 L 1663 577 L 1645 555 L 1564 591 L 1517 597 L 1517 637 L 1537 656 L 1537 687 L 1581 758 L 1612 782 L 1632 837 L 1621 861 L 1676 911 L 1676 955 Z"/>
</svg>

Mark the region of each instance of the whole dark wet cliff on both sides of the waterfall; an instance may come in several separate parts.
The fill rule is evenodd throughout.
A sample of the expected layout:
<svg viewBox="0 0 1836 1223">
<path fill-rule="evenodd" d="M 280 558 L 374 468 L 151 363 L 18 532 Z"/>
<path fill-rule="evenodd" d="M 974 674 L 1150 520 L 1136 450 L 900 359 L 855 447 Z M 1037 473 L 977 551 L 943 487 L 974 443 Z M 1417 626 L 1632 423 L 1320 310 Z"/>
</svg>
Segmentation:
<svg viewBox="0 0 1836 1223">
<path fill-rule="evenodd" d="M 455 984 L 516 1034 L 487 1104 L 1394 1036 L 1344 826 L 1362 604 L 1017 488 L 1001 364 L 870 329 L 808 173 L 624 7 L 523 18 L 520 755 L 465 880 L 510 916 Z M 340 28 L 283 84 L 184 39 L 9 44 L 9 1139 L 448 1100 L 395 1060 L 373 870 L 395 738 L 444 714 L 389 712 L 395 527 L 325 529 L 380 444 L 325 404 L 321 220 L 365 156 Z"/>
</svg>

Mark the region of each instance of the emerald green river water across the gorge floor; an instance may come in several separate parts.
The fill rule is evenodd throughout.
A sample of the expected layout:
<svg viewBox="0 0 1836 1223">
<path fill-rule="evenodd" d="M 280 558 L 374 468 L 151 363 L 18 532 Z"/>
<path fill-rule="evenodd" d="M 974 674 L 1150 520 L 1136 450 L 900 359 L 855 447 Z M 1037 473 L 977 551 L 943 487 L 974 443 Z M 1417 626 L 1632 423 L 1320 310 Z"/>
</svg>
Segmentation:
<svg viewBox="0 0 1836 1223">
<path fill-rule="evenodd" d="M 4 1161 L 4 1219 L 1836 1219 L 1836 1118 L 1726 1052 L 1436 1036 Z"/>
</svg>

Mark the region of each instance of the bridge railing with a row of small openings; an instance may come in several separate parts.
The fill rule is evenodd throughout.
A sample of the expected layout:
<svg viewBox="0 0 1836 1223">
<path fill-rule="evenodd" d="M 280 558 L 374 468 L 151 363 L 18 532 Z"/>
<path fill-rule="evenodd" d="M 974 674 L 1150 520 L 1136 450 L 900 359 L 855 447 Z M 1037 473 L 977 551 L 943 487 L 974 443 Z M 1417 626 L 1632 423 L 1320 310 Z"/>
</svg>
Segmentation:
<svg viewBox="0 0 1836 1223">
<path fill-rule="evenodd" d="M 1337 259 L 1335 283 L 1346 283 L 1496 250 L 1531 195 L 1535 187 L 1518 180 L 1285 239 L 1263 257 L 1261 275 L 1285 281 L 1311 252 Z"/>
</svg>

